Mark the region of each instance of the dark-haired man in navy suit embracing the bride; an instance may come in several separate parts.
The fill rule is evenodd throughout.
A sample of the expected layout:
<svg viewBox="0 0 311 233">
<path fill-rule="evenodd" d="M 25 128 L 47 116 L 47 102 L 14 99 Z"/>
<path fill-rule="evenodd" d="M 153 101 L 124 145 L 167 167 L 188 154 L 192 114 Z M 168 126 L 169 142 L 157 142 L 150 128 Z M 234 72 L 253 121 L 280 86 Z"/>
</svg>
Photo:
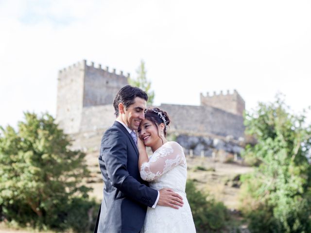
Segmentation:
<svg viewBox="0 0 311 233">
<path fill-rule="evenodd" d="M 178 209 L 183 205 L 182 197 L 171 189 L 154 190 L 140 178 L 135 131 L 145 118 L 147 100 L 144 91 L 127 85 L 113 101 L 117 119 L 101 142 L 99 165 L 104 199 L 94 233 L 139 233 L 147 206 Z"/>
</svg>

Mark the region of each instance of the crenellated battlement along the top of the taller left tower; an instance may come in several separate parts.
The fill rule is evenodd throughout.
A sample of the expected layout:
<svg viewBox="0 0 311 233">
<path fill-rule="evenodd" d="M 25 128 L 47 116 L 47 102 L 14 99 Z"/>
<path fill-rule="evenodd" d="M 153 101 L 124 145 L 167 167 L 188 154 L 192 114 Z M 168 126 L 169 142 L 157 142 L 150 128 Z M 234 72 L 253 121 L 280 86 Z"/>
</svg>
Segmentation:
<svg viewBox="0 0 311 233">
<path fill-rule="evenodd" d="M 107 72 L 107 73 L 110 73 L 110 74 L 124 76 L 122 70 L 117 72 L 116 69 L 113 68 L 112 72 L 110 72 L 108 66 L 106 66 L 105 69 L 103 69 L 102 64 L 99 64 L 99 63 L 95 64 L 94 62 L 87 62 L 86 60 L 82 60 L 82 61 L 79 61 L 77 63 L 74 63 L 71 66 L 68 66 L 68 67 L 65 67 L 65 68 L 59 70 L 58 72 L 61 74 L 61 73 L 64 73 L 64 72 L 67 72 L 67 71 L 70 71 L 70 70 L 73 70 L 73 69 L 86 69 L 86 67 L 92 67 L 94 69 L 101 70 L 101 71 L 104 71 L 104 72 Z M 127 73 L 126 77 L 129 78 L 130 77 L 130 73 Z"/>
</svg>

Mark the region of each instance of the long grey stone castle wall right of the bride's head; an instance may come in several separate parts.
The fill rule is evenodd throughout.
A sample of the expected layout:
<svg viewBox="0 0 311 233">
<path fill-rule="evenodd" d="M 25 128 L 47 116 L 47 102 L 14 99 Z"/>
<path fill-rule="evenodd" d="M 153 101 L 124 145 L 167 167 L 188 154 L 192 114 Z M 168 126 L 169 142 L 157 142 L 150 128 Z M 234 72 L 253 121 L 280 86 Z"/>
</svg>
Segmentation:
<svg viewBox="0 0 311 233">
<path fill-rule="evenodd" d="M 215 134 L 244 136 L 243 117 L 210 106 L 190 106 L 161 104 L 160 109 L 167 112 L 171 119 L 170 128 L 176 132 L 193 134 Z M 171 125 L 172 124 L 172 125 Z"/>
</svg>

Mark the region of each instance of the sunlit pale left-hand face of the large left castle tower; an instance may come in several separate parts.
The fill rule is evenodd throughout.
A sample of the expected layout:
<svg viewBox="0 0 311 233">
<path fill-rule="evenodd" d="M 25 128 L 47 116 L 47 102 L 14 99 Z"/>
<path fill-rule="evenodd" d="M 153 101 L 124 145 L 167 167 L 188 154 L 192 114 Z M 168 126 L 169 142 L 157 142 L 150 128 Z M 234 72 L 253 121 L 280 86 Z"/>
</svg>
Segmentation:
<svg viewBox="0 0 311 233">
<path fill-rule="evenodd" d="M 58 73 L 56 122 L 65 133 L 75 133 L 80 127 L 84 68 L 78 63 Z"/>
</svg>

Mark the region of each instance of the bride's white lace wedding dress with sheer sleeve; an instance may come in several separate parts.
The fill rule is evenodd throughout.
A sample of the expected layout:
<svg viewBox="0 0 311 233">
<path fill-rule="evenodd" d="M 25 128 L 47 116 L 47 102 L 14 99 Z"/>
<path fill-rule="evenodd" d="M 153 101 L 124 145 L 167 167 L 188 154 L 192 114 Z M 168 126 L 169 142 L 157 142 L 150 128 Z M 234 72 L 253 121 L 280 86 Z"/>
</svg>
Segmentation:
<svg viewBox="0 0 311 233">
<path fill-rule="evenodd" d="M 172 188 L 182 196 L 179 209 L 156 205 L 148 207 L 141 233 L 195 233 L 186 197 L 187 163 L 184 151 L 177 142 L 167 142 L 153 153 L 148 163 L 141 165 L 140 176 L 156 190 Z"/>
</svg>

